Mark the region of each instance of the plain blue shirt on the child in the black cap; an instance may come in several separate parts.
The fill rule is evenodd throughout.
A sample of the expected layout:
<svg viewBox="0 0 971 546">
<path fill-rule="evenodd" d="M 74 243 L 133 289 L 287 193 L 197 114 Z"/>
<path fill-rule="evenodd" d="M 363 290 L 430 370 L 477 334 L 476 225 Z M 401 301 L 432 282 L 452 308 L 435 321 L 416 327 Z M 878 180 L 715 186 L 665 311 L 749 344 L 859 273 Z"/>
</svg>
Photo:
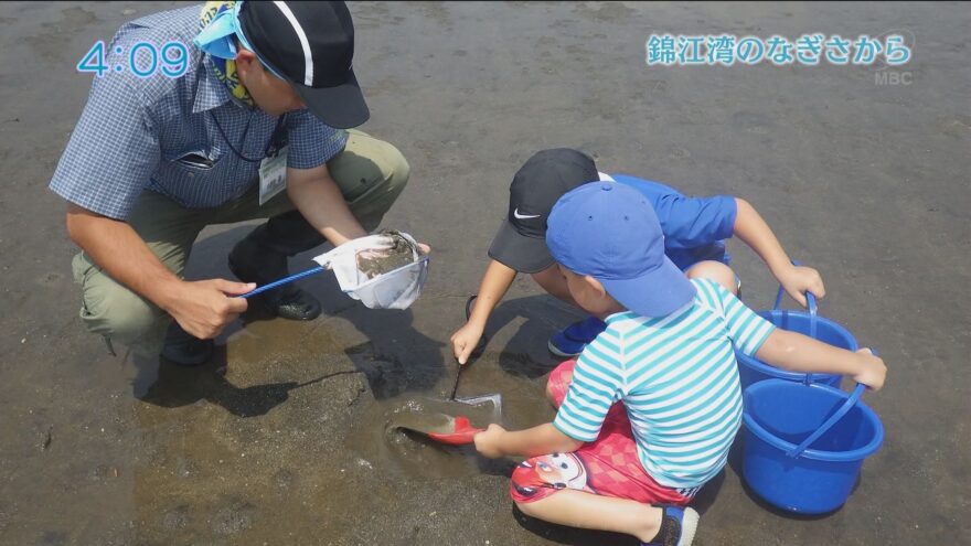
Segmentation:
<svg viewBox="0 0 971 546">
<path fill-rule="evenodd" d="M 689 197 L 660 182 L 629 174 L 615 181 L 641 192 L 654 207 L 664 233 L 664 254 L 682 270 L 703 260 L 732 264 L 723 239 L 732 237 L 738 213 L 735 197 Z"/>
</svg>

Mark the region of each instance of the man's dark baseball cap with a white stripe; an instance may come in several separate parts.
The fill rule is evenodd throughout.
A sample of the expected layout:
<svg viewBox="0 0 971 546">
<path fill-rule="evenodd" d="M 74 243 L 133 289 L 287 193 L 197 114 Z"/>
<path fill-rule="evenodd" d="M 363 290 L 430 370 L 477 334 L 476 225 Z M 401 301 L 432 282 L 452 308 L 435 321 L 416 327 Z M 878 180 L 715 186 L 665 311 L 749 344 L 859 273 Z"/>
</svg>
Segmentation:
<svg viewBox="0 0 971 546">
<path fill-rule="evenodd" d="M 294 86 L 307 108 L 339 129 L 371 113 L 351 67 L 354 23 L 344 2 L 242 2 L 239 28 L 254 53 Z"/>
</svg>

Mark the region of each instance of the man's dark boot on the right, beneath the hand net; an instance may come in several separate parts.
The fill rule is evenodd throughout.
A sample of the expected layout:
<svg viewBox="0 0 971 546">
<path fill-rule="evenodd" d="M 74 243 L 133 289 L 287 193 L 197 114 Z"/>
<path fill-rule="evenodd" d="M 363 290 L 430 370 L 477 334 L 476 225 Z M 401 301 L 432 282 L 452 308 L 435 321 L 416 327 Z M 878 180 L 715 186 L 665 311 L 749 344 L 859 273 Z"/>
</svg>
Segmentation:
<svg viewBox="0 0 971 546">
<path fill-rule="evenodd" d="M 287 257 L 244 238 L 230 253 L 230 270 L 244 282 L 267 285 L 289 275 Z M 309 292 L 294 285 L 250 298 L 250 303 L 262 306 L 267 311 L 289 320 L 313 320 L 320 315 L 320 301 Z"/>
</svg>

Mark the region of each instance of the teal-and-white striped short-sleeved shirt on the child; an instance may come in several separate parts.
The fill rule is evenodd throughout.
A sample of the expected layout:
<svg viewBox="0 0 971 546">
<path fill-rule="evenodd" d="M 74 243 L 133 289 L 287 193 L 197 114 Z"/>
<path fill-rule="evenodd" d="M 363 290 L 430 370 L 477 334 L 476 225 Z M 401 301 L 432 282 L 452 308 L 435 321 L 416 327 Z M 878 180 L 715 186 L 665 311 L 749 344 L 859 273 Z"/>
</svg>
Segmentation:
<svg viewBox="0 0 971 546">
<path fill-rule="evenodd" d="M 775 326 L 721 285 L 694 279 L 694 301 L 662 318 L 607 318 L 607 330 L 577 360 L 553 424 L 594 441 L 622 400 L 638 454 L 662 485 L 703 485 L 725 465 L 741 422 L 734 349 L 755 354 Z"/>
</svg>

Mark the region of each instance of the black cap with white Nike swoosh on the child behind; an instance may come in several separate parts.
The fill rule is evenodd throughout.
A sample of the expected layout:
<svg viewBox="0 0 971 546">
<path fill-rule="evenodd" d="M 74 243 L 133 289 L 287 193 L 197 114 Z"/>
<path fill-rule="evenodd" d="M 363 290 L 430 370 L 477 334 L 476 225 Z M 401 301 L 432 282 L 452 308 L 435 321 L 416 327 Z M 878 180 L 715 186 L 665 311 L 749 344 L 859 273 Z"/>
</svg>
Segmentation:
<svg viewBox="0 0 971 546">
<path fill-rule="evenodd" d="M 527 274 L 552 266 L 546 248 L 549 211 L 563 194 L 599 178 L 594 160 L 580 151 L 556 148 L 534 153 L 512 179 L 509 216 L 492 239 L 489 257 Z"/>
</svg>

